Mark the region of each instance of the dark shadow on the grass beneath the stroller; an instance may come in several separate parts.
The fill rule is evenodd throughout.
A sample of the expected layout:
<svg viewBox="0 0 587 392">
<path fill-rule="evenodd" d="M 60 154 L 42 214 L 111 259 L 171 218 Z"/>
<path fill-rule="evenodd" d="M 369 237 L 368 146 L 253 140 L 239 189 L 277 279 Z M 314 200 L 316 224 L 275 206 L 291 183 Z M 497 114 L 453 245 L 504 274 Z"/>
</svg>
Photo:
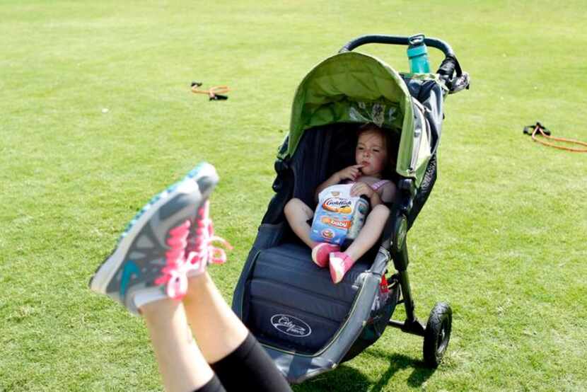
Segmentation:
<svg viewBox="0 0 587 392">
<path fill-rule="evenodd" d="M 334 371 L 329 371 L 325 374 L 304 381 L 298 386 L 294 386 L 293 389 L 296 392 L 306 391 L 335 391 L 335 392 L 347 392 L 347 391 L 381 391 L 386 385 L 388 385 L 390 379 L 397 371 L 403 369 L 412 369 L 412 374 L 407 379 L 407 384 L 414 388 L 419 388 L 424 384 L 426 380 L 434 374 L 436 369 L 430 369 L 426 367 L 424 362 L 407 357 L 403 354 L 389 354 L 388 352 L 382 352 L 380 350 L 369 350 L 368 354 L 373 357 L 379 357 L 389 360 L 389 367 L 385 373 L 381 374 L 379 379 L 375 382 L 369 380 L 360 371 L 348 367 L 342 364 Z"/>
</svg>

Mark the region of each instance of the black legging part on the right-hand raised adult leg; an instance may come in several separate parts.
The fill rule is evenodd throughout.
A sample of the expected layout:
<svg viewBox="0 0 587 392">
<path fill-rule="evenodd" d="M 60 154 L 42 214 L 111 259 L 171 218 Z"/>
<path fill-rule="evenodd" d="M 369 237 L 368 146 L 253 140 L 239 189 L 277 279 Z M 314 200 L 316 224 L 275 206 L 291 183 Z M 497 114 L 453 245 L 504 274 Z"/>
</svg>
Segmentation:
<svg viewBox="0 0 587 392">
<path fill-rule="evenodd" d="M 210 366 L 226 391 L 291 392 L 269 354 L 250 333 L 236 350 Z"/>
</svg>

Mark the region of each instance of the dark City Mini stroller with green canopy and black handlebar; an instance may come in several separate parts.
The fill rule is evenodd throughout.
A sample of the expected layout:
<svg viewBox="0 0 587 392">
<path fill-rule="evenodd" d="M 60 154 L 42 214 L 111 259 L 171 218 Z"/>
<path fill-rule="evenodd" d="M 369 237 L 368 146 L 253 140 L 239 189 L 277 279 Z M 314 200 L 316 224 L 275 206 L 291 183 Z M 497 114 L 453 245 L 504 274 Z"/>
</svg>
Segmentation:
<svg viewBox="0 0 587 392">
<path fill-rule="evenodd" d="M 445 55 L 436 74 L 398 74 L 376 57 L 353 52 L 365 44 L 427 45 Z M 289 134 L 279 149 L 269 202 L 233 296 L 233 311 L 262 343 L 289 382 L 335 369 L 372 345 L 385 327 L 424 338 L 424 362 L 437 367 L 451 337 L 452 311 L 439 302 L 426 325 L 414 314 L 406 234 L 436 181 L 443 99 L 469 78 L 442 40 L 366 35 L 318 64 L 296 91 Z M 284 206 L 298 197 L 315 205 L 314 190 L 354 164 L 356 129 L 373 122 L 391 132 L 397 149 L 399 202 L 377 245 L 339 284 L 311 260 L 293 234 Z M 395 272 L 388 275 L 390 261 Z M 391 319 L 404 304 L 405 321 Z"/>
</svg>

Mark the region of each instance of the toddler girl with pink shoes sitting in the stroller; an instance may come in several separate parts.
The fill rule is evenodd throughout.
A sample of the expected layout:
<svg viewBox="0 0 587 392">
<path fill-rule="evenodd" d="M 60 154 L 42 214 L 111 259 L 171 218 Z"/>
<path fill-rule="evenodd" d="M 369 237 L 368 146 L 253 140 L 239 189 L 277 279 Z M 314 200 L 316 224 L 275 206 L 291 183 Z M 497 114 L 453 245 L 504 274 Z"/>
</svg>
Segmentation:
<svg viewBox="0 0 587 392">
<path fill-rule="evenodd" d="M 383 172 L 389 166 L 390 138 L 387 133 L 374 124 L 366 124 L 359 129 L 359 139 L 355 148 L 356 165 L 349 166 L 332 174 L 324 183 L 318 185 L 315 195 L 330 185 L 353 183 L 351 196 L 365 195 L 371 202 L 371 212 L 359 236 L 347 250 L 332 243 L 317 243 L 310 239 L 310 225 L 314 212 L 299 199 L 291 199 L 285 206 L 286 219 L 294 233 L 312 248 L 312 260 L 319 267 L 330 264 L 332 282 L 339 283 L 344 274 L 375 244 L 387 221 L 390 211 L 385 204 L 393 202 L 395 185 L 383 180 Z"/>
</svg>

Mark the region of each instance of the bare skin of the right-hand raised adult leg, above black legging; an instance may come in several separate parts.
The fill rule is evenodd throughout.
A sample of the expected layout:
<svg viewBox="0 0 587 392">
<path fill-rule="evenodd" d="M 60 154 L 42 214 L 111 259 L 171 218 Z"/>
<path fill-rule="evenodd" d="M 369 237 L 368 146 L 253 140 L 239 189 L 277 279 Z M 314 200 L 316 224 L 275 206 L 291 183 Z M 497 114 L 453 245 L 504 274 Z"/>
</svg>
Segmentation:
<svg viewBox="0 0 587 392">
<path fill-rule="evenodd" d="M 248 329 L 226 304 L 208 272 L 190 278 L 183 304 L 209 364 L 223 359 L 245 341 Z"/>
</svg>

